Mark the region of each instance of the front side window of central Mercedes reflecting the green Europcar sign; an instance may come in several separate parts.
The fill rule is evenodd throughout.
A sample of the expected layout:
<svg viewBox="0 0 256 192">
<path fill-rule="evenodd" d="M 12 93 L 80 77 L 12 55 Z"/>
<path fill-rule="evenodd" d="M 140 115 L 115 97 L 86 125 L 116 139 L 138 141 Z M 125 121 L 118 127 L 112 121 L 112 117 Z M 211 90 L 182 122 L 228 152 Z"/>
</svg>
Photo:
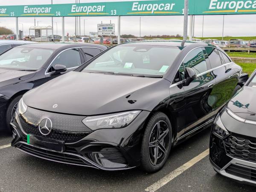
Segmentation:
<svg viewBox="0 0 256 192">
<path fill-rule="evenodd" d="M 194 49 L 190 52 L 183 61 L 184 67 L 190 67 L 195 70 L 197 74 L 207 71 L 207 64 L 202 48 Z"/>
</svg>

